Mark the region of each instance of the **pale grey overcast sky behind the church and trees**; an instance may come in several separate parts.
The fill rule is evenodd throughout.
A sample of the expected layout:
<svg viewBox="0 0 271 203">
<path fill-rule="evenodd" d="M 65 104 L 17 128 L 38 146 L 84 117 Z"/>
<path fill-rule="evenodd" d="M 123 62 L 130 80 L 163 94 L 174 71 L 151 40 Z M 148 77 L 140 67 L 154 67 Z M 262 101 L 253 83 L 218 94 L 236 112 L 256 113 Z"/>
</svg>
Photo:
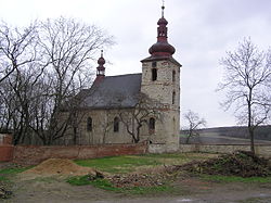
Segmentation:
<svg viewBox="0 0 271 203">
<path fill-rule="evenodd" d="M 115 36 L 105 50 L 106 75 L 140 73 L 140 61 L 156 42 L 162 0 L 0 0 L 0 20 L 25 26 L 35 20 L 75 17 Z M 188 110 L 205 117 L 208 127 L 232 126 L 215 90 L 222 77 L 219 60 L 244 37 L 260 49 L 271 45 L 270 0 L 166 0 L 168 40 L 182 66 L 181 114 Z M 98 55 L 99 58 L 99 55 Z M 93 64 L 92 64 L 93 65 Z M 94 64 L 95 65 L 95 64 Z"/>
</svg>

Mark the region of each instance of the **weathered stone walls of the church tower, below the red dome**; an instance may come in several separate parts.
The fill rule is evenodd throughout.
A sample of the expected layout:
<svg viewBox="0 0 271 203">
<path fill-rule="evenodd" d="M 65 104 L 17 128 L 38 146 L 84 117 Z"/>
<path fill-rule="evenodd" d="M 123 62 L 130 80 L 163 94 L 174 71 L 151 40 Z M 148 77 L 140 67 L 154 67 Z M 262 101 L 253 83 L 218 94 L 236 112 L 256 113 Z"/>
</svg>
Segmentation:
<svg viewBox="0 0 271 203">
<path fill-rule="evenodd" d="M 154 151 L 173 152 L 179 149 L 180 129 L 180 67 L 169 60 L 142 63 L 141 92 L 150 98 L 159 101 L 164 107 L 160 110 L 162 122 L 157 120 L 155 137 L 151 138 L 152 143 L 166 147 L 156 148 Z M 152 80 L 152 68 L 157 69 L 157 79 Z M 175 71 L 175 78 L 172 72 Z M 173 97 L 173 92 L 176 97 Z M 160 149 L 160 150 L 158 150 Z"/>
</svg>

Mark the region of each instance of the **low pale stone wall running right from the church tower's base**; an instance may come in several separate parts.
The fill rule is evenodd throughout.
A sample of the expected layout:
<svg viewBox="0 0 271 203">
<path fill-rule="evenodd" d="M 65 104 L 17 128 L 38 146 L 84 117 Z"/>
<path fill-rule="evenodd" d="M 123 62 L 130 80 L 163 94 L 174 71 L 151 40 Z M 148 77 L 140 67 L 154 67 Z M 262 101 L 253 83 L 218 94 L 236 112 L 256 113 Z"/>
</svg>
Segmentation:
<svg viewBox="0 0 271 203">
<path fill-rule="evenodd" d="M 215 152 L 215 153 L 232 153 L 236 150 L 249 151 L 250 145 L 247 144 L 180 144 L 180 152 Z M 271 157 L 271 145 L 255 145 L 256 154 Z"/>
</svg>

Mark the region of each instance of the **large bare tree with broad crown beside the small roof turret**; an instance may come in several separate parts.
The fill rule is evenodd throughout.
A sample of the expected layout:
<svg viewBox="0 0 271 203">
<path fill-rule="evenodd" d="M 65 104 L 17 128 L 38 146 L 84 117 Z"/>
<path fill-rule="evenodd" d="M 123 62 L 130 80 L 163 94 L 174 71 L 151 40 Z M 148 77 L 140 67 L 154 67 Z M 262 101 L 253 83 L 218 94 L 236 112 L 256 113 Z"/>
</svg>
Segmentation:
<svg viewBox="0 0 271 203">
<path fill-rule="evenodd" d="M 102 47 L 111 46 L 113 41 L 111 36 L 95 26 L 64 17 L 41 23 L 39 33 L 43 61 L 49 63 L 46 79 L 48 89 L 43 100 L 47 104 L 40 103 L 42 107 L 39 107 L 46 112 L 39 112 L 40 117 L 33 128 L 44 144 L 52 144 L 65 135 L 74 115 L 75 106 L 66 117 L 61 116 L 62 105 L 91 85 L 93 72 L 90 63 L 93 54 Z"/>
</svg>

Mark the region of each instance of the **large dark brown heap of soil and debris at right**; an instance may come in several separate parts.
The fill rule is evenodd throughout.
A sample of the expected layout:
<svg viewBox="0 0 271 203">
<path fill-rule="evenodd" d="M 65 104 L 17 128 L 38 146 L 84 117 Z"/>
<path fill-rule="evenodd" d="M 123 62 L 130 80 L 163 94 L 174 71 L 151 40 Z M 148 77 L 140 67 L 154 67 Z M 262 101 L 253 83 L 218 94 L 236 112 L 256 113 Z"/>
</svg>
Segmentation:
<svg viewBox="0 0 271 203">
<path fill-rule="evenodd" d="M 266 177 L 271 176 L 271 164 L 267 158 L 259 157 L 251 152 L 236 151 L 233 154 L 221 155 L 205 162 L 192 162 L 175 166 L 171 170 L 223 176 Z"/>
</svg>

